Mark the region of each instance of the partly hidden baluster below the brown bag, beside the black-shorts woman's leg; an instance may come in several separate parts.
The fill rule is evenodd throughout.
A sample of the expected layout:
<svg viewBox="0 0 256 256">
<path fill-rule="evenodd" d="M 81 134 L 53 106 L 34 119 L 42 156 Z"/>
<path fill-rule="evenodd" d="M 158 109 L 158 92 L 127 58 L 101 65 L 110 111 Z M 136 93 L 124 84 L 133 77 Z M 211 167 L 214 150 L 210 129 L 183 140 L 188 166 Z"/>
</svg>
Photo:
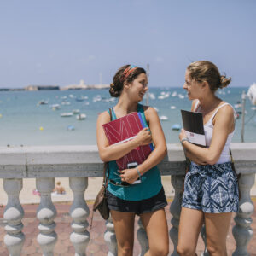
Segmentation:
<svg viewBox="0 0 256 256">
<path fill-rule="evenodd" d="M 109 216 L 108 220 L 106 221 L 106 228 L 104 234 L 104 240 L 108 244 L 108 256 L 117 256 L 117 241 L 116 236 L 114 233 L 113 221 L 111 215 Z"/>
</svg>

